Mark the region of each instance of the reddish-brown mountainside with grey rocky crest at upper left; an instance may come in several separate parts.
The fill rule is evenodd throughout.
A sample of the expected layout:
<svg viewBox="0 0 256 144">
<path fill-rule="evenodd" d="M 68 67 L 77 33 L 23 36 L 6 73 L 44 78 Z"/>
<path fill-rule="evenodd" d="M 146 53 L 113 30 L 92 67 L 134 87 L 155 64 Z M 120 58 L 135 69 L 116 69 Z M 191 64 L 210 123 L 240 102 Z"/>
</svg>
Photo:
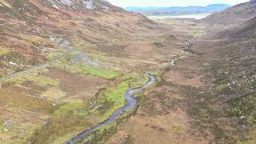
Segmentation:
<svg viewBox="0 0 256 144">
<path fill-rule="evenodd" d="M 1 0 L 0 16 L 0 76 L 49 61 L 52 38 L 112 42 L 154 24 L 105 0 Z"/>
</svg>

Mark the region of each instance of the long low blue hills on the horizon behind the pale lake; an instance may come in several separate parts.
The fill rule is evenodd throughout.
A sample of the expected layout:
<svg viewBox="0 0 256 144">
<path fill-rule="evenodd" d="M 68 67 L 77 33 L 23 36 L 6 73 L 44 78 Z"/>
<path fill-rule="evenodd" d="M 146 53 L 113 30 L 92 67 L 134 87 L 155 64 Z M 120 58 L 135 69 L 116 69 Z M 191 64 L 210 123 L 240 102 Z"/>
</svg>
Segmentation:
<svg viewBox="0 0 256 144">
<path fill-rule="evenodd" d="M 225 10 L 230 7 L 230 5 L 226 4 L 212 4 L 208 6 L 170 6 L 170 7 L 157 7 L 157 6 L 149 6 L 149 7 L 139 7 L 139 6 L 131 6 L 126 7 L 125 10 L 135 13 L 142 13 L 146 15 L 150 14 L 175 14 L 175 13 L 209 13 L 214 11 Z"/>
</svg>

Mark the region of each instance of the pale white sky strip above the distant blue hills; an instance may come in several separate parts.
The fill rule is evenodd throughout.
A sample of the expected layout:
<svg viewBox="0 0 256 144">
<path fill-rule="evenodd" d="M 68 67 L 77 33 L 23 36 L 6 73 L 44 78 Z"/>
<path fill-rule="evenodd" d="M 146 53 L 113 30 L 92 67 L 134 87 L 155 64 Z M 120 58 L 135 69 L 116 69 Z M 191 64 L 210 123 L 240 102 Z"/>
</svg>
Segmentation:
<svg viewBox="0 0 256 144">
<path fill-rule="evenodd" d="M 235 5 L 248 0 L 108 0 L 116 6 L 206 6 L 212 3 Z"/>
</svg>

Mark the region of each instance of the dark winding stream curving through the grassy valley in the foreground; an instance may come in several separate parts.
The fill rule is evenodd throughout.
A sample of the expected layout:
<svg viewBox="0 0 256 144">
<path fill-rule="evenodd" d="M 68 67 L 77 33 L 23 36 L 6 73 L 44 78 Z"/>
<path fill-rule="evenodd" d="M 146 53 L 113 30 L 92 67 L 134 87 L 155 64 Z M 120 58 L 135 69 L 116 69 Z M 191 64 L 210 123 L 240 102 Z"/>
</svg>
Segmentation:
<svg viewBox="0 0 256 144">
<path fill-rule="evenodd" d="M 110 122 L 114 122 L 115 119 L 118 118 L 118 116 L 120 116 L 121 114 L 123 114 L 124 112 L 126 112 L 127 110 L 130 109 L 134 109 L 137 106 L 137 100 L 133 97 L 134 94 L 145 90 L 146 88 L 152 86 L 154 84 L 154 76 L 146 73 L 146 76 L 148 78 L 150 78 L 150 81 L 146 83 L 146 85 L 139 87 L 139 88 L 134 88 L 134 89 L 129 89 L 126 90 L 126 106 L 122 107 L 121 109 L 117 110 L 116 112 L 114 112 L 114 114 L 112 114 L 109 118 L 107 118 L 105 121 L 98 123 L 97 125 L 91 127 L 90 129 L 87 129 L 85 131 L 83 131 L 82 133 L 78 134 L 77 136 L 75 136 L 74 138 L 71 138 L 70 141 L 66 142 L 66 144 L 73 144 L 74 142 L 78 142 L 78 140 L 80 140 L 81 138 L 86 137 L 88 134 L 94 132 L 95 130 L 97 130 L 98 128 L 102 127 L 102 126 L 106 126 L 107 124 L 109 124 Z"/>
</svg>

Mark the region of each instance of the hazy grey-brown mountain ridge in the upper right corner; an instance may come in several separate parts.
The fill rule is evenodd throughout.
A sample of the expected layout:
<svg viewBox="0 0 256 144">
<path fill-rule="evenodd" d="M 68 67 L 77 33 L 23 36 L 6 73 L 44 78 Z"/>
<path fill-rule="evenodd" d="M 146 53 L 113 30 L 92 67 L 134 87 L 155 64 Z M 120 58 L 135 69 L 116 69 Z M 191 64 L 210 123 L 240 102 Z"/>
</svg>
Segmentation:
<svg viewBox="0 0 256 144">
<path fill-rule="evenodd" d="M 237 25 L 250 20 L 254 16 L 256 16 L 256 0 L 251 0 L 232 6 L 224 11 L 210 14 L 200 21 L 222 25 Z"/>
</svg>

